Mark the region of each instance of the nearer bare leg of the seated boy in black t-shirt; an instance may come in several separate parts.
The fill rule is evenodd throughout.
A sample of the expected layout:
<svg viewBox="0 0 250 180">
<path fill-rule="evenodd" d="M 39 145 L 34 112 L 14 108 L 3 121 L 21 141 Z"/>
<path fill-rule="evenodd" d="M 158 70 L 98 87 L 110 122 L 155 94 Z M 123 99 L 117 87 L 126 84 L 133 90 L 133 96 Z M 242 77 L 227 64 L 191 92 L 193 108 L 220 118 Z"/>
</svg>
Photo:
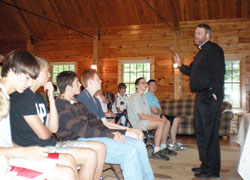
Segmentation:
<svg viewBox="0 0 250 180">
<path fill-rule="evenodd" d="M 71 153 L 78 165 L 80 180 L 93 180 L 97 168 L 97 153 L 91 148 L 75 148 Z"/>
</svg>

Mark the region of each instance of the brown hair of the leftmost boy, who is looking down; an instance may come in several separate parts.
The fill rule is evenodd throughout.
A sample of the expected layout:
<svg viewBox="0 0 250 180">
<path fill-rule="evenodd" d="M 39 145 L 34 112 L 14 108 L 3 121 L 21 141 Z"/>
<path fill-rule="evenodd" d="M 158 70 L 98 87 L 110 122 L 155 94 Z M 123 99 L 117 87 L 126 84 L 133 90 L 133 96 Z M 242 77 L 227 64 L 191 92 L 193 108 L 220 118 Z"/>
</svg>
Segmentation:
<svg viewBox="0 0 250 180">
<path fill-rule="evenodd" d="M 40 73 L 40 66 L 36 58 L 27 50 L 13 50 L 5 58 L 1 75 L 6 77 L 12 70 L 16 74 L 27 74 L 36 79 Z"/>
</svg>

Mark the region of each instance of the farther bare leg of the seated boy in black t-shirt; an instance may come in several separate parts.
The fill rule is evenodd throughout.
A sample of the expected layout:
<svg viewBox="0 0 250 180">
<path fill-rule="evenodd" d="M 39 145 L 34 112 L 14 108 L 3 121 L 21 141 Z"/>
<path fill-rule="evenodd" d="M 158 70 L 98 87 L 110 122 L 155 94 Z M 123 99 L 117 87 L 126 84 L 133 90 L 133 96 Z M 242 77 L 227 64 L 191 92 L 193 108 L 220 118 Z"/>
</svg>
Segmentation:
<svg viewBox="0 0 250 180">
<path fill-rule="evenodd" d="M 102 169 L 106 158 L 106 146 L 101 142 L 90 141 L 88 142 L 89 148 L 97 153 L 97 168 L 95 172 L 95 180 L 99 180 L 102 175 Z"/>
</svg>

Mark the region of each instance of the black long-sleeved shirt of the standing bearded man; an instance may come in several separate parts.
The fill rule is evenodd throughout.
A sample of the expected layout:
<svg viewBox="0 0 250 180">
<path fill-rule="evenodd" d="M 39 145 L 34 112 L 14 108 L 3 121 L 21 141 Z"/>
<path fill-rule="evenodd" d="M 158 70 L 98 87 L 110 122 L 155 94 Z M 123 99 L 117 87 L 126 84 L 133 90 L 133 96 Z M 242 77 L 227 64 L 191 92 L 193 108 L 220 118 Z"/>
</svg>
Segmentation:
<svg viewBox="0 0 250 180">
<path fill-rule="evenodd" d="M 210 90 L 218 98 L 224 97 L 225 59 L 217 44 L 203 44 L 190 66 L 182 65 L 180 70 L 190 76 L 192 92 Z"/>
</svg>

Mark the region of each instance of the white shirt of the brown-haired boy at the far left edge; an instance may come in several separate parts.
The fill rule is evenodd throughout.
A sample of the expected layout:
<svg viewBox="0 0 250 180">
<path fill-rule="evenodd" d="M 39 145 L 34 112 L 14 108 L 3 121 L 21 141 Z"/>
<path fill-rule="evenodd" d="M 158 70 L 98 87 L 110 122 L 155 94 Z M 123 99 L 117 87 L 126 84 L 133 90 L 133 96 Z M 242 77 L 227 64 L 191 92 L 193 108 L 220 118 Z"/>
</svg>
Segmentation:
<svg viewBox="0 0 250 180">
<path fill-rule="evenodd" d="M 5 87 L 0 83 L 0 88 L 4 92 L 5 96 L 10 99 Z M 2 107 L 1 107 L 2 108 Z M 10 117 L 0 120 L 0 147 L 12 147 L 11 129 L 10 129 Z"/>
</svg>

